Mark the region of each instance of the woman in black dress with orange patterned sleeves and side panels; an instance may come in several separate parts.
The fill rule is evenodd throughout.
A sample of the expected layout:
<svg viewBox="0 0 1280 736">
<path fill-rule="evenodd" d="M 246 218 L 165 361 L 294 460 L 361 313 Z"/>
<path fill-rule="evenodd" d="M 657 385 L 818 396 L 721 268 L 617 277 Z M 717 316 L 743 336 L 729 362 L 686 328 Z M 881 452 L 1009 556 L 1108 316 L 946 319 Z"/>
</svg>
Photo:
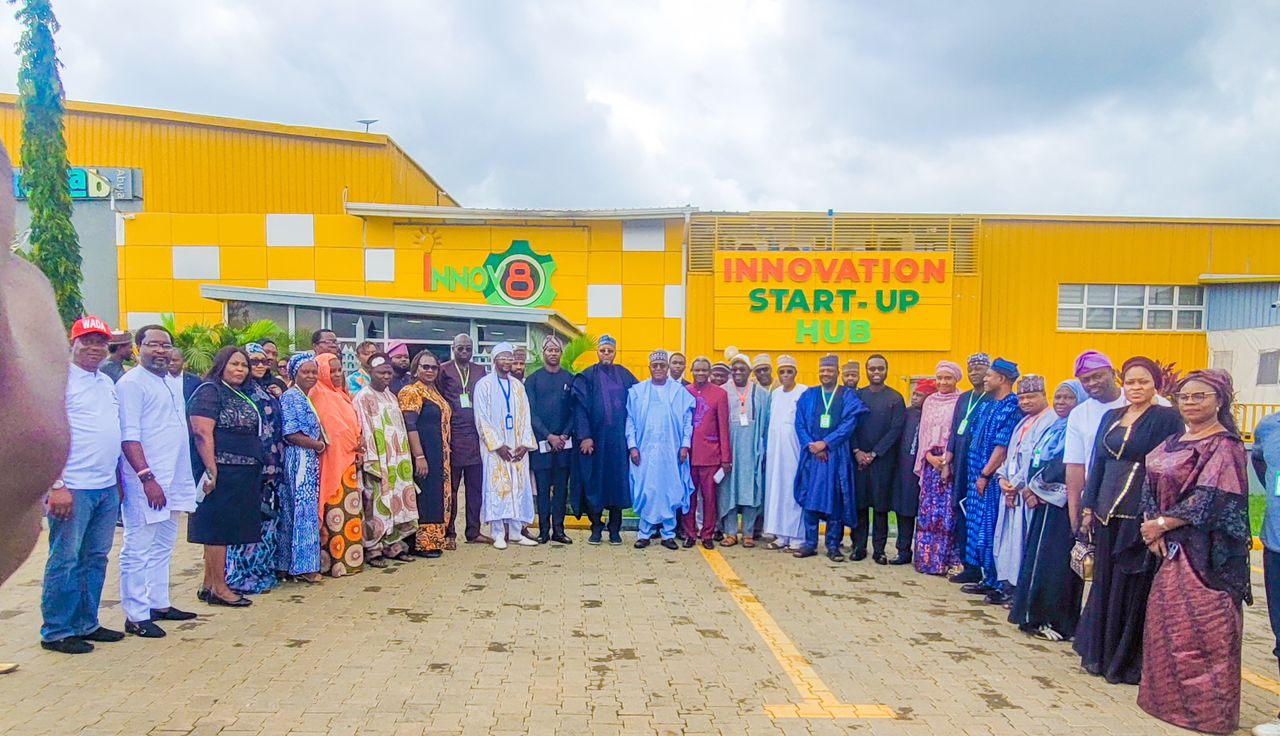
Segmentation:
<svg viewBox="0 0 1280 736">
<path fill-rule="evenodd" d="M 440 557 L 444 549 L 444 522 L 449 518 L 449 402 L 440 396 L 435 379 L 440 361 L 430 351 L 413 356 L 410 376 L 415 380 L 401 389 L 408 443 L 413 451 L 413 481 L 417 484 L 417 538 L 413 554 Z"/>
</svg>

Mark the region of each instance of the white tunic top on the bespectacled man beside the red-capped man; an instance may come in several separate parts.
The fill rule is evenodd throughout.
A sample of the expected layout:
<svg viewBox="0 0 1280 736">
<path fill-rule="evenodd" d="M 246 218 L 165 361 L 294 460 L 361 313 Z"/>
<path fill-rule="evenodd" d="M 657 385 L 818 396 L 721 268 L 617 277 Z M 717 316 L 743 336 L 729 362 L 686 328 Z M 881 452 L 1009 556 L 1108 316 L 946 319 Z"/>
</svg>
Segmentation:
<svg viewBox="0 0 1280 736">
<path fill-rule="evenodd" d="M 164 378 L 137 367 L 115 384 L 120 402 L 120 440 L 142 443 L 147 467 L 156 474 L 166 506 L 147 506 L 142 484 L 125 462 L 124 522 L 128 525 L 168 521 L 170 511 L 196 511 L 196 480 L 191 475 L 191 444 L 182 376 Z"/>
</svg>

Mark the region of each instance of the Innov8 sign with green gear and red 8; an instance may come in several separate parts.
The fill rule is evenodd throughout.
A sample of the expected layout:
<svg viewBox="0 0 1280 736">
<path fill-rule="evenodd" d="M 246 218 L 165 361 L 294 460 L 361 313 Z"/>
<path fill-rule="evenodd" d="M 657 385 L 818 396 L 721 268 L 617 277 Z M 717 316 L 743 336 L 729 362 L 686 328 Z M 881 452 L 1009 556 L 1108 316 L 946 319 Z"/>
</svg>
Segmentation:
<svg viewBox="0 0 1280 736">
<path fill-rule="evenodd" d="M 479 292 L 490 305 L 509 307 L 545 307 L 556 300 L 556 261 L 535 253 L 529 241 L 512 241 L 504 252 L 490 253 L 474 268 L 434 268 L 430 253 L 424 260 L 429 292 Z"/>
</svg>

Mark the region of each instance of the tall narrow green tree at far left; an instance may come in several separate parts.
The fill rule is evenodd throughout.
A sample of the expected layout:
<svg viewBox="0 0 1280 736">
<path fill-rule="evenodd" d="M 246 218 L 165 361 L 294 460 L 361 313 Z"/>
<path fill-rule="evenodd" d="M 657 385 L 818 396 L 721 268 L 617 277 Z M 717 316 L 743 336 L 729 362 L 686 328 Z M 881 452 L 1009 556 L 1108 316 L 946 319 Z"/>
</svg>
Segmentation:
<svg viewBox="0 0 1280 736">
<path fill-rule="evenodd" d="M 10 0 L 12 1 L 12 0 Z M 84 314 L 81 298 L 81 252 L 72 227 L 65 93 L 54 33 L 58 18 L 49 0 L 23 0 L 18 51 L 18 108 L 22 110 L 22 186 L 31 207 L 31 261 L 54 287 L 58 312 L 68 326 Z"/>
</svg>

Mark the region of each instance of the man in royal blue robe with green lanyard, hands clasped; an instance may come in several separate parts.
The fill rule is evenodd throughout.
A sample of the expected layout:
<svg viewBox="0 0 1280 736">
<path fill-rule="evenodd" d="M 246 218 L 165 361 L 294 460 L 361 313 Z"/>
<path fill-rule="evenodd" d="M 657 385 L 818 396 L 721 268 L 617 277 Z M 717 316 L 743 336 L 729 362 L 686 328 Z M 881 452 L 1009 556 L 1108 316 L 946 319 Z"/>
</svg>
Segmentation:
<svg viewBox="0 0 1280 736">
<path fill-rule="evenodd" d="M 852 389 L 840 385 L 840 358 L 818 360 L 815 385 L 796 402 L 796 436 L 800 439 L 800 466 L 796 468 L 795 498 L 804 509 L 804 547 L 796 557 L 818 554 L 818 522 L 827 521 L 827 558 L 840 562 L 840 543 L 845 526 L 858 524 L 858 497 L 854 493 L 854 456 L 849 438 L 858 417 L 867 412 Z"/>
</svg>

